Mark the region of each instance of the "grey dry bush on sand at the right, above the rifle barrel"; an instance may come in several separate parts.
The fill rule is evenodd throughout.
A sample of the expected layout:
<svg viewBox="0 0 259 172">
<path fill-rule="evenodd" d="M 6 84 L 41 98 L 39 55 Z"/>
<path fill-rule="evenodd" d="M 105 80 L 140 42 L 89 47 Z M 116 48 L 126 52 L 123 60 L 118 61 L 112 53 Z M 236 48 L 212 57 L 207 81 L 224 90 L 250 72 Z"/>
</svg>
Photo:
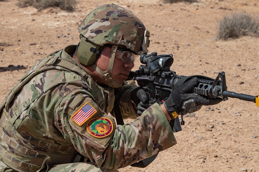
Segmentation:
<svg viewBox="0 0 259 172">
<path fill-rule="evenodd" d="M 227 40 L 244 35 L 259 37 L 259 20 L 249 13 L 226 14 L 218 24 L 218 39 Z"/>
</svg>

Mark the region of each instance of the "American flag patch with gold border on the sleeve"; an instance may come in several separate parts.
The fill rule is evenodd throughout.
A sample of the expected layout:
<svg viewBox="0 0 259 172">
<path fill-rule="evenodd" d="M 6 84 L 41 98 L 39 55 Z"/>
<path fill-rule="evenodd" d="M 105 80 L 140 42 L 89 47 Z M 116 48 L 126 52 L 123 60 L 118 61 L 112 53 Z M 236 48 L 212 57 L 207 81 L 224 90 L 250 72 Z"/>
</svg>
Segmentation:
<svg viewBox="0 0 259 172">
<path fill-rule="evenodd" d="M 96 112 L 95 108 L 87 102 L 73 116 L 71 116 L 71 119 L 79 126 L 82 126 L 85 121 L 87 121 L 87 119 Z"/>
</svg>

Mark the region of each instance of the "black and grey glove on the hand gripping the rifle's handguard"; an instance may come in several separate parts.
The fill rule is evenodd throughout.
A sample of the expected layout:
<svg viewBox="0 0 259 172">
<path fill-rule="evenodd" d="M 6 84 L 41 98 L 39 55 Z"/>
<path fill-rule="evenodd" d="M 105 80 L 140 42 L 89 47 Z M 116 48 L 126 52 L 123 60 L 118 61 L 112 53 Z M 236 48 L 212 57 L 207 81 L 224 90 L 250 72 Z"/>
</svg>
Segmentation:
<svg viewBox="0 0 259 172">
<path fill-rule="evenodd" d="M 179 79 L 174 85 L 170 96 L 164 101 L 164 106 L 172 119 L 178 115 L 198 111 L 202 105 L 213 105 L 222 101 L 220 98 L 214 99 L 192 93 L 197 84 L 198 78 L 191 76 Z"/>
</svg>

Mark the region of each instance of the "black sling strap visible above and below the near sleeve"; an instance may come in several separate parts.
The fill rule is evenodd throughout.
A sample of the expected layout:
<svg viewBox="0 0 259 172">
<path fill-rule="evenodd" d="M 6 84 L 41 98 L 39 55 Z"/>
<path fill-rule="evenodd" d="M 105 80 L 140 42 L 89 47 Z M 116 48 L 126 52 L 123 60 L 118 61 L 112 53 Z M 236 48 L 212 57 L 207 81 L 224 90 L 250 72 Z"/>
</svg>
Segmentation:
<svg viewBox="0 0 259 172">
<path fill-rule="evenodd" d="M 113 107 L 113 112 L 114 112 L 114 116 L 116 118 L 116 122 L 118 125 L 124 125 L 124 121 L 121 115 L 121 111 L 120 111 L 120 107 L 119 107 L 119 101 L 118 99 L 115 99 L 114 101 L 114 107 Z M 139 167 L 139 168 L 145 168 L 147 167 L 151 162 L 153 162 L 156 158 L 156 156 L 158 155 L 158 153 L 156 153 L 155 155 L 148 157 L 146 159 L 143 159 L 139 162 L 135 162 L 134 164 L 132 164 L 132 167 Z"/>
</svg>

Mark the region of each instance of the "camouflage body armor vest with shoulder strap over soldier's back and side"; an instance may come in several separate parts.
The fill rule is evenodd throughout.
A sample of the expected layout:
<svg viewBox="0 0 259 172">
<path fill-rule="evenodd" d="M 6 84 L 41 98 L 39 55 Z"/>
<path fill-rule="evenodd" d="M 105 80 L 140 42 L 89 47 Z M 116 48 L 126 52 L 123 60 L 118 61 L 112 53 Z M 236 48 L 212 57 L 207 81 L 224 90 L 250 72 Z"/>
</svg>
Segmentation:
<svg viewBox="0 0 259 172">
<path fill-rule="evenodd" d="M 59 55 L 55 55 L 59 54 Z M 0 158 L 9 167 L 17 171 L 37 171 L 46 160 L 51 164 L 76 162 L 77 151 L 73 144 L 60 142 L 54 139 L 36 138 L 24 132 L 18 131 L 19 119 L 10 114 L 9 106 L 15 94 L 34 76 L 46 70 L 62 70 L 74 72 L 86 79 L 87 72 L 80 67 L 60 58 L 60 53 L 54 52 L 39 61 L 29 70 L 8 94 L 0 106 Z M 77 161 L 79 162 L 79 160 Z"/>
</svg>

